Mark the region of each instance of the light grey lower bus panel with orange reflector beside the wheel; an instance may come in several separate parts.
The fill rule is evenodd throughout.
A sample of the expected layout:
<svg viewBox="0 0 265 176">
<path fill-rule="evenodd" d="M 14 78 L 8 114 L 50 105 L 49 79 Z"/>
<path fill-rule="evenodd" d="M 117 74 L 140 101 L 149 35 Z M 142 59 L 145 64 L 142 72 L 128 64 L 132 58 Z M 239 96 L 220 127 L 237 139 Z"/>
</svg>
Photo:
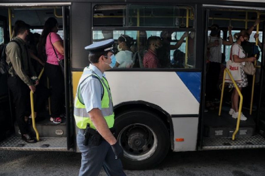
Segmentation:
<svg viewBox="0 0 265 176">
<path fill-rule="evenodd" d="M 196 150 L 198 119 L 198 117 L 172 118 L 174 128 L 173 151 L 180 152 Z M 184 139 L 184 141 L 176 141 L 176 139 Z"/>
</svg>

